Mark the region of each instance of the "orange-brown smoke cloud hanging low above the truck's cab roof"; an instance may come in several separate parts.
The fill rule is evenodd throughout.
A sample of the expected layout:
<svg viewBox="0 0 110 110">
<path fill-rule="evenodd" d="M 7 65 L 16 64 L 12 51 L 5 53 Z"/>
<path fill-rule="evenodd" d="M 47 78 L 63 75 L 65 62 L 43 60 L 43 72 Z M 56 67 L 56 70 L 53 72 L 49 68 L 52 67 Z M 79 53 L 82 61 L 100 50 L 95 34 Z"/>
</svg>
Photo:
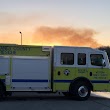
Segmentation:
<svg viewBox="0 0 110 110">
<path fill-rule="evenodd" d="M 93 38 L 96 34 L 92 29 L 42 26 L 36 29 L 33 42 L 43 45 L 99 47 L 100 44 Z"/>
</svg>

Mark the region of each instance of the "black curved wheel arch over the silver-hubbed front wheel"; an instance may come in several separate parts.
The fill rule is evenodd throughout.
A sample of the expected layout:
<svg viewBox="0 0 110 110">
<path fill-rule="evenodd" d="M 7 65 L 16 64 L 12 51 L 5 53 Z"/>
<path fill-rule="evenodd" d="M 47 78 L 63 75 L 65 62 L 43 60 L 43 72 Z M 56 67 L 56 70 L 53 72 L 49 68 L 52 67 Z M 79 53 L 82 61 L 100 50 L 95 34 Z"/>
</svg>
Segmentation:
<svg viewBox="0 0 110 110">
<path fill-rule="evenodd" d="M 90 90 L 93 91 L 93 85 L 92 85 L 91 81 L 85 77 L 78 77 L 78 78 L 74 79 L 71 82 L 70 87 L 71 87 L 71 85 L 74 86 L 77 82 L 85 82 L 90 87 Z"/>
</svg>

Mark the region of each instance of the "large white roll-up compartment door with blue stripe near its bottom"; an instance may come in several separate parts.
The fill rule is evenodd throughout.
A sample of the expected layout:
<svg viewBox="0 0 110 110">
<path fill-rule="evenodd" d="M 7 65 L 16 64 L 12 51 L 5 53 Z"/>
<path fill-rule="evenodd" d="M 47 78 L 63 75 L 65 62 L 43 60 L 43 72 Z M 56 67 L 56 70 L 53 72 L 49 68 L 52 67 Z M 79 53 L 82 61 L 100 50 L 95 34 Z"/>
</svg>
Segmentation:
<svg viewBox="0 0 110 110">
<path fill-rule="evenodd" d="M 49 57 L 14 57 L 12 59 L 12 87 L 25 89 L 49 88 Z"/>
</svg>

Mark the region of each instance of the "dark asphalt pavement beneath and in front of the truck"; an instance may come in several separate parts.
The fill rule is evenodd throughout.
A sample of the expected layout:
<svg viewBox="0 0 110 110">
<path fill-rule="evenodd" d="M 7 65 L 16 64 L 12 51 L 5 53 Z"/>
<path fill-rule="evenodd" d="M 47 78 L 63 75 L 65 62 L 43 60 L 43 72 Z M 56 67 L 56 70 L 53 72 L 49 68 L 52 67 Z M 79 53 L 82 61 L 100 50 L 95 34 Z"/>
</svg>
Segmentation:
<svg viewBox="0 0 110 110">
<path fill-rule="evenodd" d="M 110 110 L 109 95 L 92 94 L 87 101 L 76 101 L 59 94 L 14 93 L 0 102 L 0 110 Z"/>
</svg>

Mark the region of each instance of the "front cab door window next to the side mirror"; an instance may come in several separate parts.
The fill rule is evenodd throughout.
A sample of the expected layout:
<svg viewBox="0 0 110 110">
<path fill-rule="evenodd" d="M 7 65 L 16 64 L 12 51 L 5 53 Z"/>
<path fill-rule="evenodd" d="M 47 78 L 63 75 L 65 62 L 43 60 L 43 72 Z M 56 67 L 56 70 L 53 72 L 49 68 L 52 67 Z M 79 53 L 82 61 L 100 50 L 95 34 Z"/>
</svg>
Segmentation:
<svg viewBox="0 0 110 110">
<path fill-rule="evenodd" d="M 102 66 L 102 59 L 104 59 L 102 54 L 91 54 L 91 65 L 94 66 Z"/>
</svg>

